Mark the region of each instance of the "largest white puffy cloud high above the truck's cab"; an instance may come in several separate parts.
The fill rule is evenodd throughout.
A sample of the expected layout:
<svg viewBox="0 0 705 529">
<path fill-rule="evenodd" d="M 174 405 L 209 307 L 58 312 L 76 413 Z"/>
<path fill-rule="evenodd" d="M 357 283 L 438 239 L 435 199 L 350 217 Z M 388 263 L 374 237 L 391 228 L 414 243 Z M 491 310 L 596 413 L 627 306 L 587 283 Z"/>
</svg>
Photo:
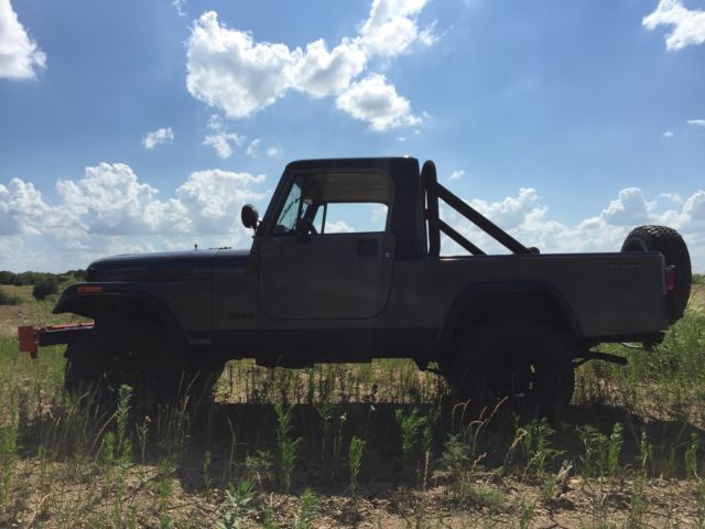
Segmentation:
<svg viewBox="0 0 705 529">
<path fill-rule="evenodd" d="M 426 0 L 375 0 L 369 18 L 356 36 L 344 37 L 329 48 L 323 39 L 304 48 L 283 43 L 256 42 L 247 31 L 229 29 L 215 11 L 194 21 L 187 42 L 186 87 L 192 96 L 221 109 L 229 118 L 246 118 L 273 105 L 289 90 L 314 98 L 340 97 L 360 90 L 369 79 L 356 83 L 375 56 L 391 58 L 408 52 L 414 43 L 434 42 L 432 28 L 421 30 L 417 15 Z M 416 123 L 409 101 L 384 82 L 387 104 L 375 111 L 349 102 L 338 104 L 375 130 Z M 387 110 L 390 112 L 382 116 Z M 399 115 L 399 112 L 405 112 Z"/>
</svg>

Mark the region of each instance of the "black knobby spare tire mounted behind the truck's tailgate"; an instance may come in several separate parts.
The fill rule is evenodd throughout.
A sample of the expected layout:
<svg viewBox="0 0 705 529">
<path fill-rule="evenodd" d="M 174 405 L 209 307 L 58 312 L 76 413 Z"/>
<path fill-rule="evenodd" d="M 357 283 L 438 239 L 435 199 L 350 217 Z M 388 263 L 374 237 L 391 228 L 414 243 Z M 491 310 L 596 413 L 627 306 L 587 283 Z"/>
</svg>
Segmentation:
<svg viewBox="0 0 705 529">
<path fill-rule="evenodd" d="M 621 245 L 621 251 L 660 251 L 666 266 L 675 268 L 675 287 L 666 294 L 666 314 L 670 323 L 683 316 L 691 296 L 691 255 L 675 229 L 666 226 L 639 226 L 631 230 Z"/>
</svg>

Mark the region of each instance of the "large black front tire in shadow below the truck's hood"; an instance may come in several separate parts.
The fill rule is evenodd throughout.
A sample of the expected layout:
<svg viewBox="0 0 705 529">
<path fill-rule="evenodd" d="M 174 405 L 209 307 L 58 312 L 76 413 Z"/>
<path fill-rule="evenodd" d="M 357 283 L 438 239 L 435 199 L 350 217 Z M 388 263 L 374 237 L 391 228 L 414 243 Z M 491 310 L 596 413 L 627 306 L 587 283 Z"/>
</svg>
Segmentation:
<svg viewBox="0 0 705 529">
<path fill-rule="evenodd" d="M 101 403 L 116 401 L 121 385 L 142 403 L 181 406 L 208 400 L 221 361 L 197 361 L 156 324 L 99 324 L 66 349 L 65 388 Z"/>
</svg>

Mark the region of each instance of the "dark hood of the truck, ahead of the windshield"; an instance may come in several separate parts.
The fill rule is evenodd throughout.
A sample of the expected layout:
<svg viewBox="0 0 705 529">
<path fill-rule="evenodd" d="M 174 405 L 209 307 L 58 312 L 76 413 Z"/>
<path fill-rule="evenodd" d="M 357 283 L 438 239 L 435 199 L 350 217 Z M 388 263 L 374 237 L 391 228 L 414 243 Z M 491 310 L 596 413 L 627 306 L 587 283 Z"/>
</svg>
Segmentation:
<svg viewBox="0 0 705 529">
<path fill-rule="evenodd" d="M 213 277 L 218 250 L 124 255 L 98 259 L 88 267 L 88 281 L 174 281 Z M 228 250 L 234 252 L 234 250 Z M 249 255 L 249 251 L 235 251 Z"/>
</svg>

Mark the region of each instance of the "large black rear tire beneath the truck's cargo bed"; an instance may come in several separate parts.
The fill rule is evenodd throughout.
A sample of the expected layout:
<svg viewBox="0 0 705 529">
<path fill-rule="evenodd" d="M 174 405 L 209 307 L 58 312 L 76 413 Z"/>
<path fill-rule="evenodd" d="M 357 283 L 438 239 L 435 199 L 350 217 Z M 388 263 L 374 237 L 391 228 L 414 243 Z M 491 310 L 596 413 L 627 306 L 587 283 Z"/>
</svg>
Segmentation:
<svg viewBox="0 0 705 529">
<path fill-rule="evenodd" d="M 458 397 L 481 407 L 507 398 L 517 411 L 550 414 L 567 404 L 575 389 L 573 363 L 556 332 L 523 319 L 469 328 L 445 369 Z"/>
</svg>

